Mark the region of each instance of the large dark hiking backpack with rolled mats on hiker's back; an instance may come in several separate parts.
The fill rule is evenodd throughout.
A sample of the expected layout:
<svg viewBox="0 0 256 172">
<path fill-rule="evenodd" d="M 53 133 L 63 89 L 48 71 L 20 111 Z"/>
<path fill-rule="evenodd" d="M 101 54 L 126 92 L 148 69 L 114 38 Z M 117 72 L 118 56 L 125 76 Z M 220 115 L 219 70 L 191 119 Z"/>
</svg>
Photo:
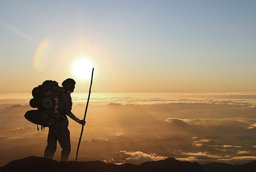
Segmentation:
<svg viewBox="0 0 256 172">
<path fill-rule="evenodd" d="M 57 122 L 60 122 L 64 116 L 62 94 L 64 90 L 58 85 L 58 82 L 46 80 L 42 85 L 33 88 L 32 96 L 29 105 L 36 110 L 29 110 L 25 113 L 25 118 L 41 125 L 41 129 L 49 127 Z"/>
</svg>

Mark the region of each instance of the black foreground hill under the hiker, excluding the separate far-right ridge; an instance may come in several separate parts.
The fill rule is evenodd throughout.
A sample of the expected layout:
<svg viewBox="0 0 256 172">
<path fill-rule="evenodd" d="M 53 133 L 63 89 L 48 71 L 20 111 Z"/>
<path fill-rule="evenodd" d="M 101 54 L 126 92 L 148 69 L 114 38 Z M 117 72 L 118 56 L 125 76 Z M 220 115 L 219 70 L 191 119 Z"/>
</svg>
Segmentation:
<svg viewBox="0 0 256 172">
<path fill-rule="evenodd" d="M 107 164 L 101 161 L 58 162 L 52 160 L 51 165 L 44 165 L 43 157 L 29 156 L 14 160 L 0 168 L 1 172 L 27 172 L 27 171 L 61 171 L 61 172 L 205 172 L 200 164 L 194 162 L 181 162 L 174 158 L 159 161 L 145 162 L 139 166 L 132 164 Z"/>
</svg>

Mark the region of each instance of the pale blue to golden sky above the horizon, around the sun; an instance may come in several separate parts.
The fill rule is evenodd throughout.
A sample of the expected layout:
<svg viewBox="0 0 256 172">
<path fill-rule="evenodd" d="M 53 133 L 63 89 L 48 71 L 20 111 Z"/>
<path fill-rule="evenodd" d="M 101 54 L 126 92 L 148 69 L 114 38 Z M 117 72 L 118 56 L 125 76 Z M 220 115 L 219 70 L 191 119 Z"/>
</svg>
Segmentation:
<svg viewBox="0 0 256 172">
<path fill-rule="evenodd" d="M 0 0 L 0 92 L 254 92 L 255 0 Z M 76 68 L 76 67 L 75 67 Z M 83 67 L 80 67 L 83 68 Z"/>
</svg>

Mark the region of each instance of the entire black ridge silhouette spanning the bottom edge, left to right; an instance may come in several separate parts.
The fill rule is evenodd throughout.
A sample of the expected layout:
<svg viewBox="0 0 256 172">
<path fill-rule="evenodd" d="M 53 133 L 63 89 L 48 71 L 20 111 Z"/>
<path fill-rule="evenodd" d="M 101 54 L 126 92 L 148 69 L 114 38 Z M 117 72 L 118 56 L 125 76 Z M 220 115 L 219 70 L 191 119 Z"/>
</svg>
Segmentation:
<svg viewBox="0 0 256 172">
<path fill-rule="evenodd" d="M 132 165 L 129 163 L 121 165 L 107 164 L 98 160 L 85 162 L 58 162 L 51 160 L 50 165 L 45 166 L 44 158 L 37 156 L 17 159 L 0 167 L 1 172 L 255 172 L 255 169 L 256 161 L 244 165 L 231 165 L 226 163 L 208 163 L 200 165 L 197 162 L 181 162 L 175 158 L 148 161 L 141 165 Z"/>
</svg>

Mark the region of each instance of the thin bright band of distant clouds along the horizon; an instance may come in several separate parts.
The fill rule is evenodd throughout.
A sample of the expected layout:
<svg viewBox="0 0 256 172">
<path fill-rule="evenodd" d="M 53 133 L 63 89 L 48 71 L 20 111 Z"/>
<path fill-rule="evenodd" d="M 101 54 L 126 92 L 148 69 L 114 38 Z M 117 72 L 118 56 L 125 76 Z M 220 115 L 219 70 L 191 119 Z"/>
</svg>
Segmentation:
<svg viewBox="0 0 256 172">
<path fill-rule="evenodd" d="M 86 104 L 88 95 L 81 93 L 71 94 L 73 103 Z M 18 102 L 32 99 L 31 93 L 4 93 L 0 92 L 0 103 Z M 116 104 L 169 104 L 169 103 L 203 103 L 203 104 L 226 104 L 240 107 L 256 107 L 255 92 L 203 92 L 203 93 L 91 93 L 90 104 L 108 105 Z"/>
</svg>

